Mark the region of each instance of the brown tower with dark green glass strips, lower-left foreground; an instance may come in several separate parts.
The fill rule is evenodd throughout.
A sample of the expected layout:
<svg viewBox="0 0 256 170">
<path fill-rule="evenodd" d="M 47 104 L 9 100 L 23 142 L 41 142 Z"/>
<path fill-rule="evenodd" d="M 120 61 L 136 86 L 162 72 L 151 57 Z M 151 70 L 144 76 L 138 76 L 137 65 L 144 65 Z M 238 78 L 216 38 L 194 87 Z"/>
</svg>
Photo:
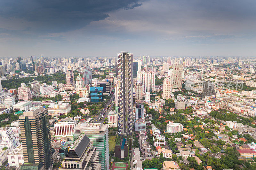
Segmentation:
<svg viewBox="0 0 256 170">
<path fill-rule="evenodd" d="M 21 169 L 47 170 L 52 165 L 52 143 L 47 109 L 32 107 L 19 116 L 24 164 Z"/>
</svg>

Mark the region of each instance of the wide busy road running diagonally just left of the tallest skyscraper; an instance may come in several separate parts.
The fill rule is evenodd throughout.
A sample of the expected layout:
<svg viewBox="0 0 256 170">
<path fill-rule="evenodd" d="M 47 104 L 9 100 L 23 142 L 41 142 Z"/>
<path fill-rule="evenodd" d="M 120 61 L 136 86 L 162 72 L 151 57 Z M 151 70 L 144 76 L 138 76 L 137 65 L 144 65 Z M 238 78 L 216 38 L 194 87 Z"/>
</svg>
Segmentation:
<svg viewBox="0 0 256 170">
<path fill-rule="evenodd" d="M 104 120 L 108 117 L 108 113 L 111 111 L 111 108 L 115 104 L 114 99 L 115 99 L 115 93 L 108 100 L 108 103 L 106 103 L 106 105 L 101 109 L 101 111 L 99 112 L 99 115 L 94 118 L 93 123 L 103 123 L 104 122 Z M 109 104 L 110 104 L 110 106 L 109 106 Z M 104 116 L 102 117 L 103 114 L 104 114 Z M 100 119 L 102 119 L 102 120 L 100 120 Z"/>
</svg>

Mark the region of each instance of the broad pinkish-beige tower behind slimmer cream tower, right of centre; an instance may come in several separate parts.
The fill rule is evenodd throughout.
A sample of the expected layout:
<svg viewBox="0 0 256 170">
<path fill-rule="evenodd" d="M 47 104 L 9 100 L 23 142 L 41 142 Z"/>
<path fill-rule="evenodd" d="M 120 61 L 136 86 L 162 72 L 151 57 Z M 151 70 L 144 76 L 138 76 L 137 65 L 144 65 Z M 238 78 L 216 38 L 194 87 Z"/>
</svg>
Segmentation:
<svg viewBox="0 0 256 170">
<path fill-rule="evenodd" d="M 181 89 L 182 88 L 182 64 L 173 64 L 173 81 L 172 88 Z"/>
</svg>

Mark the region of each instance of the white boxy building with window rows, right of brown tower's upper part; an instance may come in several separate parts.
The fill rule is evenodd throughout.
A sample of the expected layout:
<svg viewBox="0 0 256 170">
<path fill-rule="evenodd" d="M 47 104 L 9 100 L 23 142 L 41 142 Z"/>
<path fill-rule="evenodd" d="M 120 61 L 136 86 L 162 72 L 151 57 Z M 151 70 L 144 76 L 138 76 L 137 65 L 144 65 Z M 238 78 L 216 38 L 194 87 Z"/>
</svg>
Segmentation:
<svg viewBox="0 0 256 170">
<path fill-rule="evenodd" d="M 76 120 L 60 120 L 54 123 L 55 136 L 73 136 Z"/>
</svg>

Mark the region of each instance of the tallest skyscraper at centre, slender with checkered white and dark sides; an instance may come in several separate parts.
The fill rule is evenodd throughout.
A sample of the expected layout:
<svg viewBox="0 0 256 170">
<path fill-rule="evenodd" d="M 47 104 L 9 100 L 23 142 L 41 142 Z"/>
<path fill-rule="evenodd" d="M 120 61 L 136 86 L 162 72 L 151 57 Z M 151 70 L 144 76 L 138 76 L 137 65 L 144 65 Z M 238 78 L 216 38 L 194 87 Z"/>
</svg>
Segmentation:
<svg viewBox="0 0 256 170">
<path fill-rule="evenodd" d="M 132 54 L 122 52 L 118 54 L 118 135 L 132 133 Z"/>
</svg>

